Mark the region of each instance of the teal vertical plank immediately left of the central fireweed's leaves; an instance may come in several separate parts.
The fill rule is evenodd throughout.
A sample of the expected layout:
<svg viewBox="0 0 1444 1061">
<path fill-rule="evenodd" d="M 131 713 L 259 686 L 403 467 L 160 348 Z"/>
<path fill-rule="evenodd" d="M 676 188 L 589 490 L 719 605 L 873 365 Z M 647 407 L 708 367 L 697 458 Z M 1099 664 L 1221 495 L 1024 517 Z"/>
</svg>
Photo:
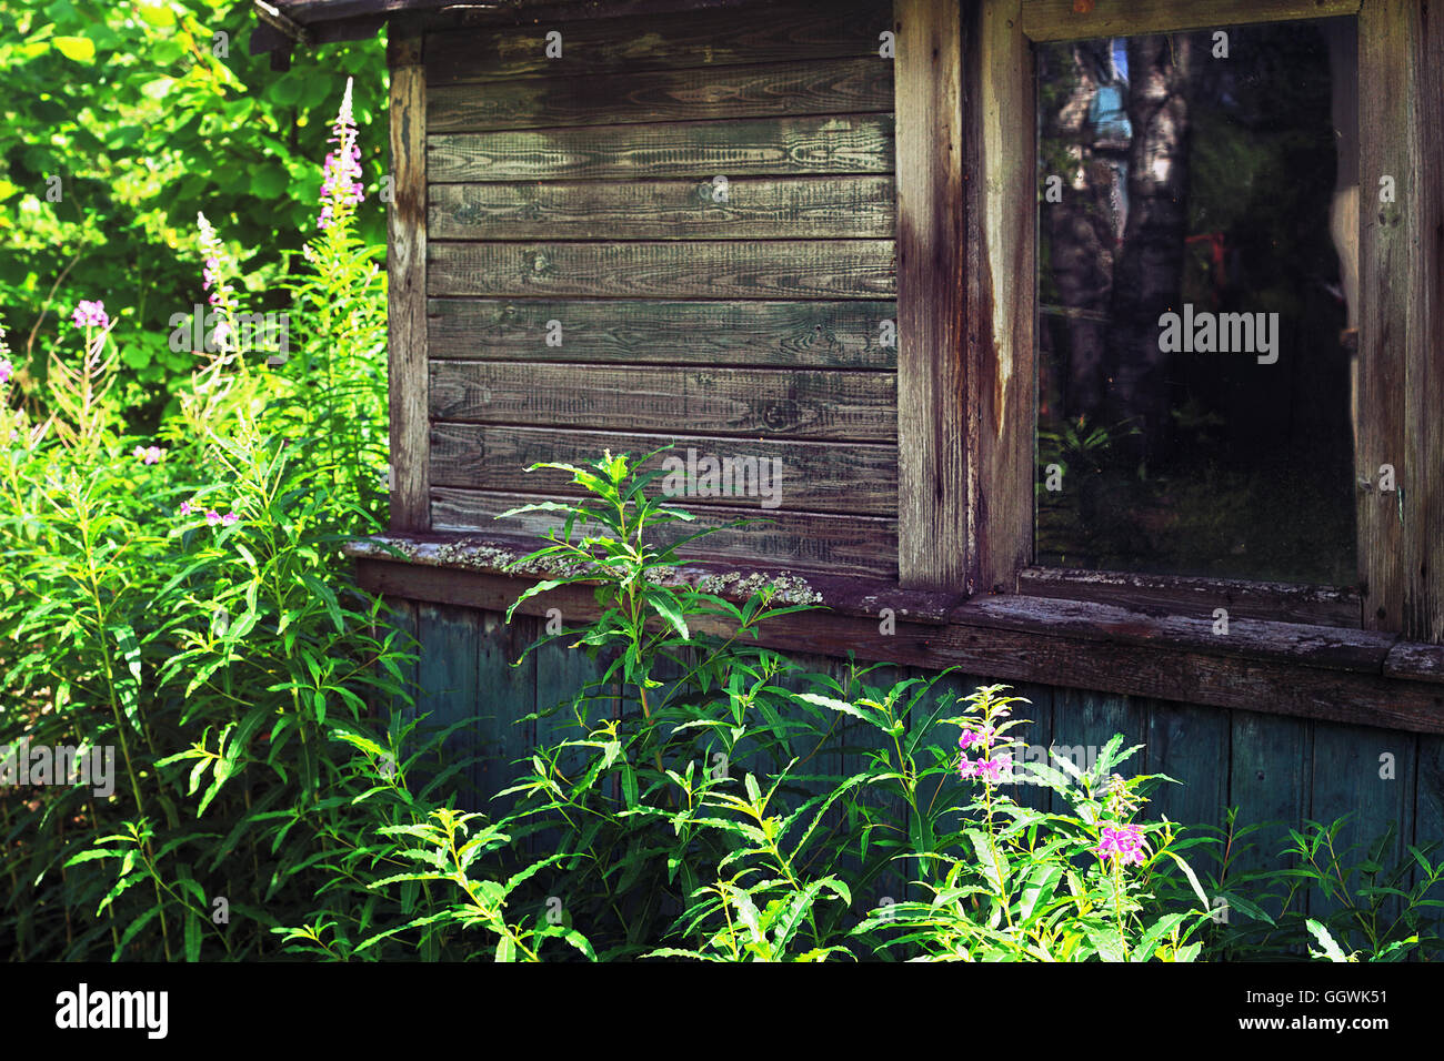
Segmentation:
<svg viewBox="0 0 1444 1061">
<path fill-rule="evenodd" d="M 510 624 L 500 612 L 479 615 L 478 687 L 487 690 L 479 716 L 487 756 L 479 784 L 482 805 L 492 818 L 505 816 L 516 804 L 516 795 L 494 797 L 526 772 L 524 761 L 536 746 L 536 720 L 521 722 L 536 710 L 536 657 L 513 667 L 536 637 L 537 621 L 530 615 L 518 614 Z"/>
</svg>

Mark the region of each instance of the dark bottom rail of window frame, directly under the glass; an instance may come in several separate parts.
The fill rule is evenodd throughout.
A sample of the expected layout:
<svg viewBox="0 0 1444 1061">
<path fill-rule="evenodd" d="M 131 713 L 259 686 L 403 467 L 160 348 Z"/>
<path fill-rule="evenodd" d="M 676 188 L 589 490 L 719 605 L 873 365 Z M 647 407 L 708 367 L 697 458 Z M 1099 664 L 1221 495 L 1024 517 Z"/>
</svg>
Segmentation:
<svg viewBox="0 0 1444 1061">
<path fill-rule="evenodd" d="M 1096 601 L 1145 612 L 1305 622 L 1359 629 L 1359 592 L 1328 586 L 1238 582 L 1190 576 L 1089 572 L 1069 567 L 1025 567 L 1018 592 L 1064 601 Z"/>
</svg>

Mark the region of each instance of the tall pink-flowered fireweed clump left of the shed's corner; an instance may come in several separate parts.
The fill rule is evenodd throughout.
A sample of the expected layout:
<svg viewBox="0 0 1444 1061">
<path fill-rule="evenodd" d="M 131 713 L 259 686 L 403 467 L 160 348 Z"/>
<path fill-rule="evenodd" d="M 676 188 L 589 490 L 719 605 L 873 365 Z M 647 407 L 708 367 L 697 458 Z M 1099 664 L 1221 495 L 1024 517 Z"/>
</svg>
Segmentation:
<svg viewBox="0 0 1444 1061">
<path fill-rule="evenodd" d="M 371 886 L 409 869 L 381 830 L 438 821 L 461 765 L 396 710 L 414 657 L 341 554 L 381 525 L 386 433 L 384 299 L 342 191 L 279 364 L 243 348 L 237 256 L 198 219 L 218 323 L 155 437 L 124 435 L 100 300 L 25 396 L 40 416 L 0 351 L 0 756 L 114 771 L 0 793 L 7 959 L 446 953 L 406 925 L 449 889 Z"/>
</svg>

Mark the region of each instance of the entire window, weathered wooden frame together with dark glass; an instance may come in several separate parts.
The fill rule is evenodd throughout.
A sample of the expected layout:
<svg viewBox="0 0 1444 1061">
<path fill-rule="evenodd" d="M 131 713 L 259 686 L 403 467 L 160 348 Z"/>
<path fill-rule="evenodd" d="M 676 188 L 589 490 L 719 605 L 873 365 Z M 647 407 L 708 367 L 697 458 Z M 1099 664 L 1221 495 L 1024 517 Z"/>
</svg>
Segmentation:
<svg viewBox="0 0 1444 1061">
<path fill-rule="evenodd" d="M 901 585 L 1099 599 L 1112 579 L 1145 586 L 1174 614 L 1227 599 L 1256 618 L 1444 641 L 1444 40 L 1422 1 L 949 7 L 897 4 Z M 1112 294 L 1123 279 L 1106 307 L 1096 280 L 1095 305 L 1079 294 L 1087 284 L 1063 290 L 1054 221 L 1040 231 L 1056 205 L 1040 202 L 1048 152 L 1074 153 L 1071 169 L 1058 166 L 1064 191 L 1082 183 L 1097 196 L 1099 214 L 1082 218 L 1090 238 L 1121 234 L 1126 256 L 1128 212 L 1139 209 L 1131 154 L 1149 136 L 1129 111 L 1129 82 L 1139 64 L 1167 72 L 1165 48 L 1207 49 L 1212 64 L 1216 29 L 1233 65 L 1196 71 L 1190 101 L 1200 124 L 1225 134 L 1196 139 L 1190 204 L 1168 204 L 1158 244 L 1175 261 L 1165 286 L 1177 290 L 1178 335 L 1162 338 L 1167 306 L 1149 305 L 1151 342 L 1168 346 L 1164 370 L 1147 385 L 1125 380 L 1112 397 L 1105 371 L 1100 396 L 1087 325 L 1119 323 Z M 1090 139 L 1074 130 L 1070 143 L 1048 85 L 1069 91 L 1084 74 L 1093 89 L 1076 105 Z M 1353 146 L 1341 143 L 1350 128 Z M 1093 169 L 1080 178 L 1083 162 Z M 1352 166 L 1357 228 L 1336 202 Z M 1251 183 L 1262 179 L 1287 182 L 1272 212 Z M 1135 299 L 1147 287 L 1128 283 Z M 1190 303 L 1191 352 L 1181 338 Z M 1239 333 L 1252 354 L 1203 354 L 1200 312 L 1276 312 L 1279 332 L 1264 345 L 1276 341 L 1278 359 L 1258 332 Z M 1142 307 L 1134 318 L 1148 319 Z M 1232 345 L 1242 320 L 1227 325 Z M 1281 365 L 1276 378 L 1261 375 Z M 1106 433 L 1058 437 L 1080 414 Z M 1071 462 L 1048 460 L 1050 445 L 1071 446 Z M 1112 476 L 1093 508 L 1050 511 L 1047 465 L 1069 465 L 1067 482 L 1090 459 L 1099 479 Z M 1232 499 L 1210 507 L 1210 491 Z M 1292 603 L 1281 608 L 1285 596 Z"/>
</svg>

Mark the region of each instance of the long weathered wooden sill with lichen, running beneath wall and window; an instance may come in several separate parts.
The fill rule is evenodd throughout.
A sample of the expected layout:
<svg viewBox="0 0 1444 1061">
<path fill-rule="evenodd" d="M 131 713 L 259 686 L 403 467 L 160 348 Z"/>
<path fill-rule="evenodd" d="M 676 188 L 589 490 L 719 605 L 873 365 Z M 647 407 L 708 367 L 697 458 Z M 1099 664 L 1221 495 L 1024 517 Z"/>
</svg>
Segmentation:
<svg viewBox="0 0 1444 1061">
<path fill-rule="evenodd" d="M 388 596 L 504 612 L 539 577 L 537 564 L 508 572 L 537 541 L 505 536 L 377 536 L 348 546 L 362 588 Z M 1022 593 L 978 595 L 901 589 L 826 573 L 696 563 L 676 570 L 690 585 L 745 601 L 774 585 L 777 603 L 809 603 L 764 626 L 780 651 L 965 673 L 1002 681 L 1292 715 L 1330 722 L 1444 733 L 1444 645 L 1310 622 L 1230 614 L 1214 634 L 1212 611 L 1181 615 L 1148 605 Z M 563 586 L 521 606 L 560 608 L 567 622 L 596 614 L 586 586 Z M 895 628 L 882 632 L 884 609 Z M 703 629 L 706 626 L 703 625 Z M 721 632 L 721 631 L 718 631 Z"/>
</svg>

